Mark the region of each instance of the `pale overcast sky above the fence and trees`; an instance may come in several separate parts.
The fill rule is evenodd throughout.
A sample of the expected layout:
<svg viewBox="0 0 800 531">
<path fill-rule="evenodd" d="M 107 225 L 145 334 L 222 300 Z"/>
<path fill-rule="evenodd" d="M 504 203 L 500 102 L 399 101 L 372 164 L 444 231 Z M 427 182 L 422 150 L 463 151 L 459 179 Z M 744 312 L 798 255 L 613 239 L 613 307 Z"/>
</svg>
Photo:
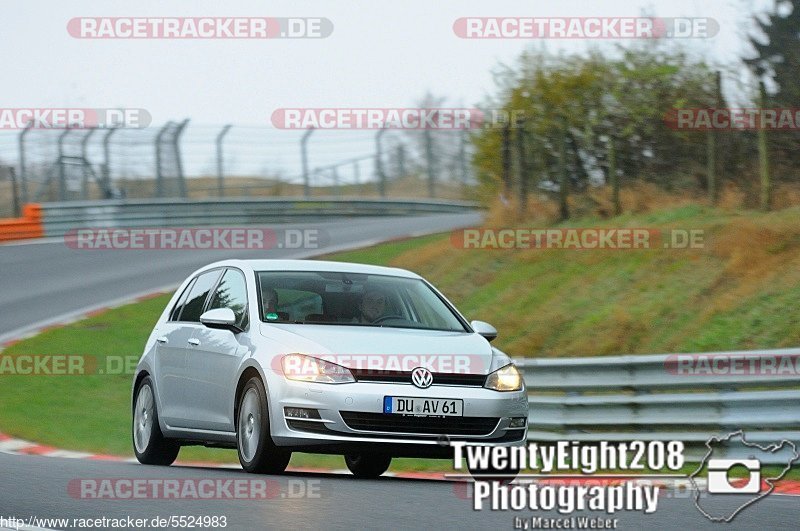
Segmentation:
<svg viewBox="0 0 800 531">
<path fill-rule="evenodd" d="M 154 122 L 268 124 L 279 107 L 409 106 L 430 90 L 474 104 L 493 90 L 491 70 L 513 62 L 530 41 L 466 40 L 463 16 L 638 16 L 715 18 L 714 39 L 684 41 L 720 61 L 741 50 L 741 28 L 757 0 L 41 1 L 4 2 L 3 107 L 148 109 Z M 67 33 L 80 16 L 326 17 L 326 39 L 81 40 Z M 595 41 L 596 42 L 596 41 Z M 590 43 L 594 44 L 594 43 Z M 600 46 L 608 45 L 608 41 Z M 584 41 L 550 41 L 555 50 Z"/>
</svg>

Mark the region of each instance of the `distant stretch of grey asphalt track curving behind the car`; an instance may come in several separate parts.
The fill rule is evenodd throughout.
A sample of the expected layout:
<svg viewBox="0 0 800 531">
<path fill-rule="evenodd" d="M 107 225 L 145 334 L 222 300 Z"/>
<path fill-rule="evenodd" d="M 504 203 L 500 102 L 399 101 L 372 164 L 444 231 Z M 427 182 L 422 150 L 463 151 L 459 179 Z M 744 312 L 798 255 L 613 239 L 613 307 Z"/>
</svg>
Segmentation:
<svg viewBox="0 0 800 531">
<path fill-rule="evenodd" d="M 352 218 L 270 225 L 280 230 L 318 229 L 318 249 L 78 250 L 55 238 L 0 245 L 0 343 L 33 323 L 95 305 L 177 285 L 193 270 L 226 258 L 307 258 L 346 247 L 475 225 L 480 214 Z M 320 238 L 323 239 L 323 238 Z"/>
</svg>

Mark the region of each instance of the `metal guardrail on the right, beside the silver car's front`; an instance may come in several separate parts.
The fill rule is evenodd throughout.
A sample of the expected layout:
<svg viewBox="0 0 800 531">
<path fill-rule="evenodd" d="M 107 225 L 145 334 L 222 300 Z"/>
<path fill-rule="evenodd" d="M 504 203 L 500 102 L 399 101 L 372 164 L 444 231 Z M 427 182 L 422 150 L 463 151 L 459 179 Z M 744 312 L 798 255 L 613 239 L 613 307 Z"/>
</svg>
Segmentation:
<svg viewBox="0 0 800 531">
<path fill-rule="evenodd" d="M 711 437 L 744 430 L 749 442 L 800 448 L 800 348 L 515 361 L 530 441 L 680 440 L 699 457 Z M 770 457 L 785 464 L 790 454 Z"/>
</svg>

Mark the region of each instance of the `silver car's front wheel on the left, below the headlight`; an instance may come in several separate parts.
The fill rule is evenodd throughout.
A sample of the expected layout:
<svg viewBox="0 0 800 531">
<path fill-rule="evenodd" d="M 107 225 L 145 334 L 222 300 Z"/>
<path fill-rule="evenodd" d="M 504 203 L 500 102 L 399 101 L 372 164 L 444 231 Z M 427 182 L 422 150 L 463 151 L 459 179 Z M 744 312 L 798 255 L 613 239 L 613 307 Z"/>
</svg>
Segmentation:
<svg viewBox="0 0 800 531">
<path fill-rule="evenodd" d="M 280 474 L 292 458 L 292 452 L 275 446 L 272 440 L 267 392 L 257 377 L 250 378 L 239 397 L 236 449 L 242 468 L 254 474 Z"/>
</svg>

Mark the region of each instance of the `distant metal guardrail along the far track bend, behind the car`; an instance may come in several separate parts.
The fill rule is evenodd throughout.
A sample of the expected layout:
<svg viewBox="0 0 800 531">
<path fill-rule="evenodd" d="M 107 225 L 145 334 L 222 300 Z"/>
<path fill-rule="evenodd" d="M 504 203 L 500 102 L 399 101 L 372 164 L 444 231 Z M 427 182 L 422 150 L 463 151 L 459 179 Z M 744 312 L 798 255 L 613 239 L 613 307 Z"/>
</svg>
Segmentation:
<svg viewBox="0 0 800 531">
<path fill-rule="evenodd" d="M 42 203 L 45 236 L 78 228 L 237 226 L 313 221 L 331 216 L 399 216 L 466 212 L 476 203 L 363 198 L 149 199 Z"/>
</svg>

